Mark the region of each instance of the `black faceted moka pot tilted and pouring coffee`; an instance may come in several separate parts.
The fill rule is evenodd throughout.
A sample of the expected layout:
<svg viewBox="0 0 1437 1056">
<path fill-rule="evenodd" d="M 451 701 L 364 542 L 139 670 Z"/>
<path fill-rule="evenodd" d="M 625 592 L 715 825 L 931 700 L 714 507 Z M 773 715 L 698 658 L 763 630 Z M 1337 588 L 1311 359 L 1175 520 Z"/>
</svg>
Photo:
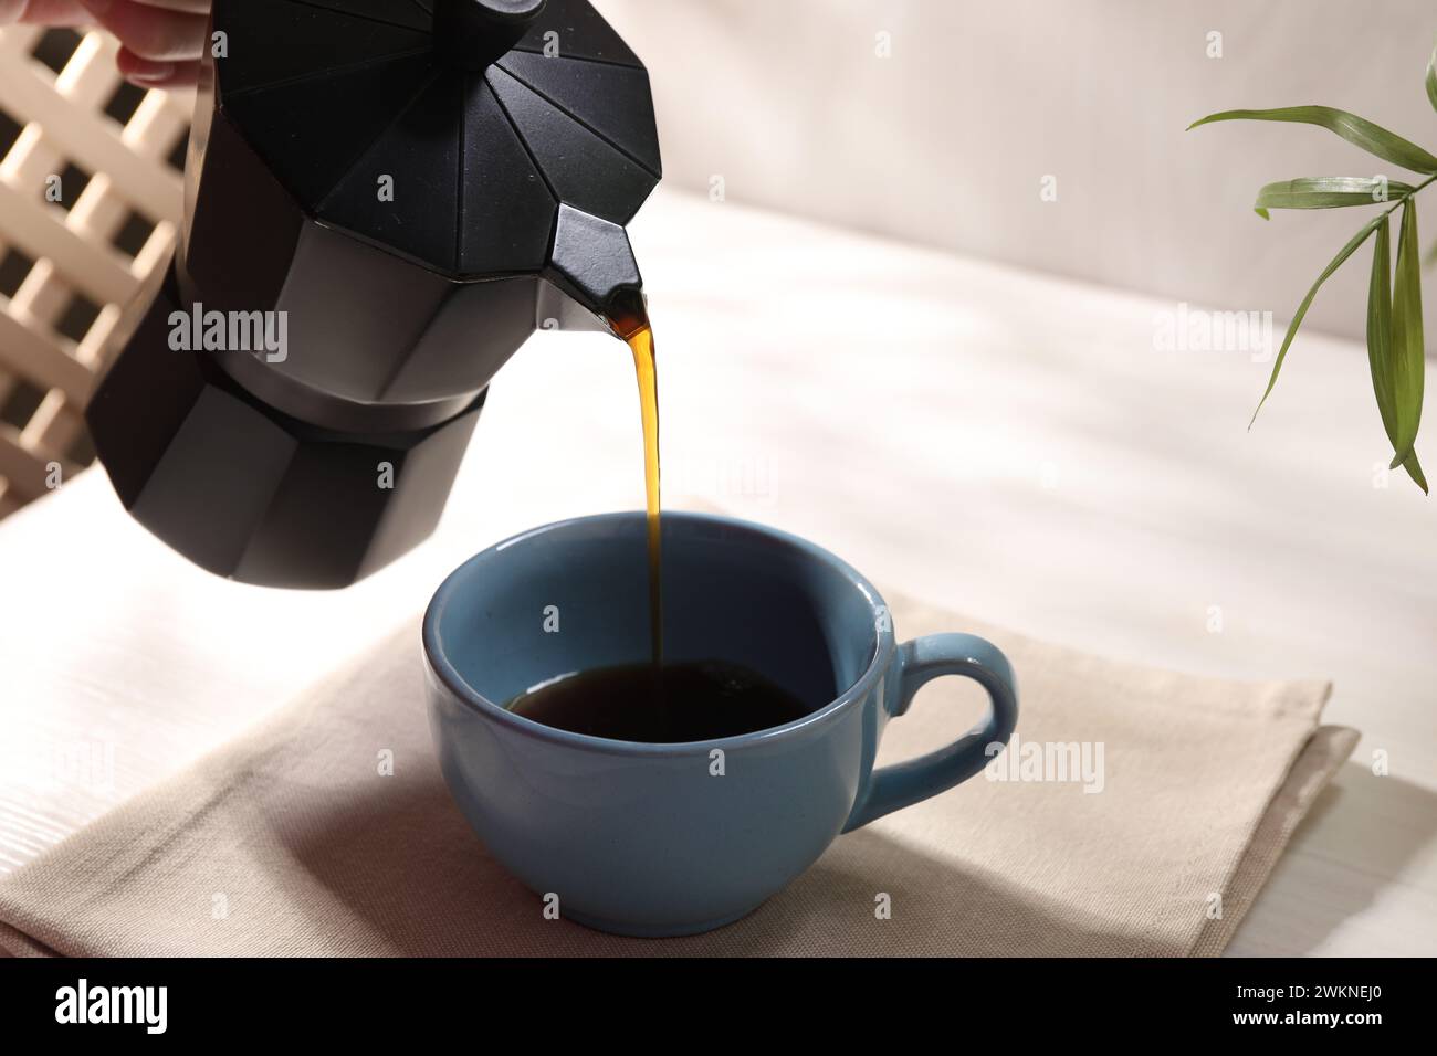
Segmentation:
<svg viewBox="0 0 1437 1056">
<path fill-rule="evenodd" d="M 494 372 L 641 286 L 648 73 L 585 0 L 216 0 L 174 264 L 86 412 L 131 513 L 338 588 L 438 522 Z"/>
</svg>

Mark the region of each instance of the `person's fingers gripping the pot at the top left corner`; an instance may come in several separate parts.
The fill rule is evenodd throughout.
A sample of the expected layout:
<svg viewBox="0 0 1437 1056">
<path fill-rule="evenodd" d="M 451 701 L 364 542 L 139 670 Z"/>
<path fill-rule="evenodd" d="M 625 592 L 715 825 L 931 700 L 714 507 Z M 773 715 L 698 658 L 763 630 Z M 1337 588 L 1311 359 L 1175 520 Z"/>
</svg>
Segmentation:
<svg viewBox="0 0 1437 1056">
<path fill-rule="evenodd" d="M 141 88 L 193 85 L 210 0 L 0 0 L 0 26 L 98 23 L 119 37 L 119 72 Z"/>
</svg>

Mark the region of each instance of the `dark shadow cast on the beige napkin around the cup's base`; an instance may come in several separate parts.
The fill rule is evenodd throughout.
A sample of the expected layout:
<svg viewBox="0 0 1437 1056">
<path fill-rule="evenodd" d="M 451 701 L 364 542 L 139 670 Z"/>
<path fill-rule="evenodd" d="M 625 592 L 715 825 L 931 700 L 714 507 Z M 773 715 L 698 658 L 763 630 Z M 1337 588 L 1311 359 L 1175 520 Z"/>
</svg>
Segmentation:
<svg viewBox="0 0 1437 1056">
<path fill-rule="evenodd" d="M 418 772 L 418 773 L 415 773 Z M 343 803 L 272 818 L 277 839 L 352 914 L 354 953 L 402 955 L 1181 954 L 1095 909 L 954 868 L 877 830 L 841 836 L 787 889 L 707 935 L 638 940 L 543 918 L 470 830 L 433 760 Z M 879 920 L 877 899 L 891 901 Z M 296 899 L 300 905 L 325 899 Z M 342 914 L 349 918 L 349 914 Z M 333 930 L 335 908 L 310 928 Z"/>
</svg>

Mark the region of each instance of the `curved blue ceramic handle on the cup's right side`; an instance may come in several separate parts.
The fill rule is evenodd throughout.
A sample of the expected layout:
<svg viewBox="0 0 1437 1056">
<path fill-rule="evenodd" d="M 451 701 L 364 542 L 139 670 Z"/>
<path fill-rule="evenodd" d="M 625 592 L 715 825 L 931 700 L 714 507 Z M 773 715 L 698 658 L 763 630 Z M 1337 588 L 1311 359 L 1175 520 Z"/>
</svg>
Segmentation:
<svg viewBox="0 0 1437 1056">
<path fill-rule="evenodd" d="M 894 717 L 907 713 L 914 694 L 940 675 L 963 675 L 987 690 L 992 701 L 987 718 L 947 747 L 875 770 L 868 784 L 868 795 L 848 816 L 844 832 L 852 832 L 875 818 L 912 806 L 966 782 L 992 759 L 989 746 L 1007 744 L 1007 738 L 1013 736 L 1013 727 L 1017 724 L 1017 685 L 1013 681 L 1013 667 L 993 642 L 977 635 L 924 635 L 900 645 L 898 705 Z"/>
</svg>

